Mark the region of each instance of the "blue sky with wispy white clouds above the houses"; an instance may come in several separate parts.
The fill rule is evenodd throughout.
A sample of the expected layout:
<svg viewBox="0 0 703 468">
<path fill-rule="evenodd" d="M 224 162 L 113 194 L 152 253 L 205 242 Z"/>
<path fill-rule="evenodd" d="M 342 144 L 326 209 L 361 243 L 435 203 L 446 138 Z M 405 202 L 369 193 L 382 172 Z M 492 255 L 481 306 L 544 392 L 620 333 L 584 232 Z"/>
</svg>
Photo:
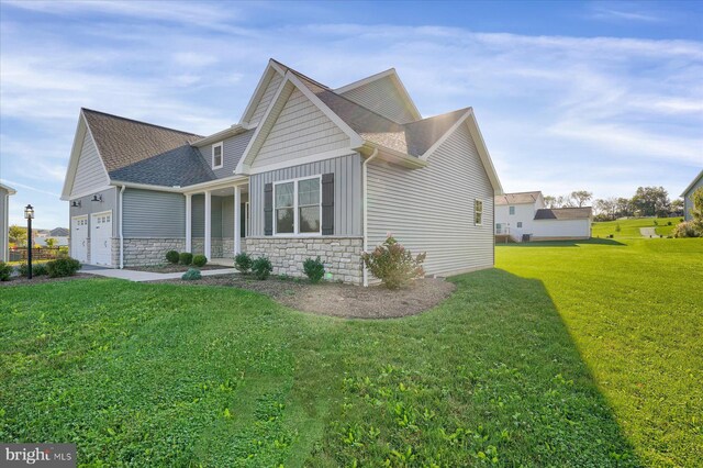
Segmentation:
<svg viewBox="0 0 703 468">
<path fill-rule="evenodd" d="M 471 105 L 507 192 L 676 198 L 703 168 L 703 2 L 0 0 L 10 223 L 68 226 L 81 107 L 212 134 L 270 57 L 333 88 L 394 67 L 423 116 Z"/>
</svg>

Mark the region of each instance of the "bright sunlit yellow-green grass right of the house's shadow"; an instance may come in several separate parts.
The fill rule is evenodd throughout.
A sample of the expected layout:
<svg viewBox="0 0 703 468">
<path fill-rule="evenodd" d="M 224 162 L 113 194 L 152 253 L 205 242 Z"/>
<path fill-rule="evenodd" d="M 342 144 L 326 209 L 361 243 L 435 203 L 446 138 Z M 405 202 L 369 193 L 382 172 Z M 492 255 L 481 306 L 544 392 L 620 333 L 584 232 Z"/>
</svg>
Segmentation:
<svg viewBox="0 0 703 468">
<path fill-rule="evenodd" d="M 500 247 L 496 266 L 544 283 L 643 463 L 700 466 L 703 241 L 617 244 Z"/>
</svg>

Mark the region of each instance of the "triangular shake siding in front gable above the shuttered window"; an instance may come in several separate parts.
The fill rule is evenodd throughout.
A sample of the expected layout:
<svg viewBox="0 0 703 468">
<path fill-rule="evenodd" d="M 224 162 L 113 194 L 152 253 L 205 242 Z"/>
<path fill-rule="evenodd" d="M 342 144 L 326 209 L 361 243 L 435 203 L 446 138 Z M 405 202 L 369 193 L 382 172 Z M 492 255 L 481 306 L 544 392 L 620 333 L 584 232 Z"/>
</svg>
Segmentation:
<svg viewBox="0 0 703 468">
<path fill-rule="evenodd" d="M 348 148 L 349 137 L 299 89 L 294 89 L 261 144 L 252 167 Z"/>
</svg>

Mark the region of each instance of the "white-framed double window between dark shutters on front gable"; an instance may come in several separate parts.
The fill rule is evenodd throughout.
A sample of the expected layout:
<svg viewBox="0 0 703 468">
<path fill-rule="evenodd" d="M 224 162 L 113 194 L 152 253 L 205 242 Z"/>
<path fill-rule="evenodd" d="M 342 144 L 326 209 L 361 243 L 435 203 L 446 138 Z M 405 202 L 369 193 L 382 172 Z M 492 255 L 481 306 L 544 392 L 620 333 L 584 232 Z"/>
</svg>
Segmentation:
<svg viewBox="0 0 703 468">
<path fill-rule="evenodd" d="M 321 234 L 320 177 L 274 183 L 274 233 Z"/>
</svg>

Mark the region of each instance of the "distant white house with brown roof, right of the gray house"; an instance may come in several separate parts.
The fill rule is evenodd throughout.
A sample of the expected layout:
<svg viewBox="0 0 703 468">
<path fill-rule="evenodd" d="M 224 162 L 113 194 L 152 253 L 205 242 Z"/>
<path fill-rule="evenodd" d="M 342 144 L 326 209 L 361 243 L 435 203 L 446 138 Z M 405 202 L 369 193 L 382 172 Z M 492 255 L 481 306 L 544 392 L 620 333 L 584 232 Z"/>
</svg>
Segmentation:
<svg viewBox="0 0 703 468">
<path fill-rule="evenodd" d="M 495 235 L 512 241 L 591 237 L 591 207 L 546 208 L 540 191 L 495 197 Z"/>
</svg>

